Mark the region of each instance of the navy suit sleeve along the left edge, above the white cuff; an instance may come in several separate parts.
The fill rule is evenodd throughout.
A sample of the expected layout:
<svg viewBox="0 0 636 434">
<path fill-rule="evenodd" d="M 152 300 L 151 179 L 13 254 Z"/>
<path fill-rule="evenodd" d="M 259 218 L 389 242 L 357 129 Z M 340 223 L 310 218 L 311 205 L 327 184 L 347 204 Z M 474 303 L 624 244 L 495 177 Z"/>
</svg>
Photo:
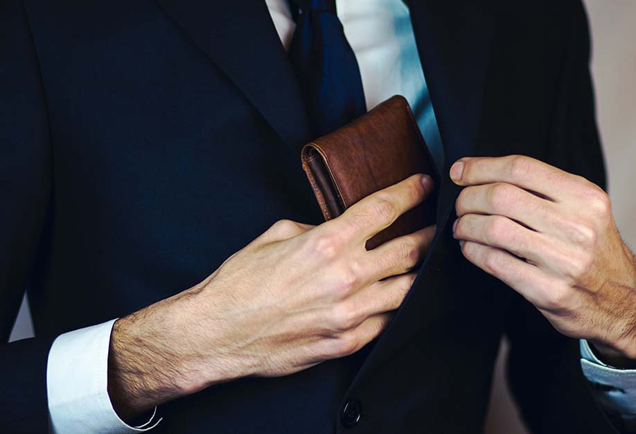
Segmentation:
<svg viewBox="0 0 636 434">
<path fill-rule="evenodd" d="M 51 150 L 46 102 L 21 1 L 0 0 L 0 426 L 46 433 L 53 338 L 7 343 L 46 219 Z"/>
</svg>

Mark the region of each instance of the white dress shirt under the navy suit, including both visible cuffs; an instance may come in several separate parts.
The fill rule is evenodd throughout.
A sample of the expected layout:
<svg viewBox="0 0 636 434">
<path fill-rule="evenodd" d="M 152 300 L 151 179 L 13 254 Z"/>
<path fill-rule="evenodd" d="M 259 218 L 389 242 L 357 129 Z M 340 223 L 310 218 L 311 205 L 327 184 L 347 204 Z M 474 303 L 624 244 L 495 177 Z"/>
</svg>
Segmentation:
<svg viewBox="0 0 636 434">
<path fill-rule="evenodd" d="M 265 1 L 286 50 L 296 26 L 288 3 L 286 0 Z M 405 3 L 402 0 L 336 0 L 336 6 L 360 66 L 367 109 L 390 96 L 403 95 L 413 108 L 427 143 L 441 143 Z M 431 153 L 438 168 L 442 168 L 443 150 L 433 148 Z M 132 427 L 113 409 L 107 392 L 113 323 L 114 320 L 62 334 L 53 343 L 46 374 L 53 433 L 138 433 L 160 422 L 155 411 L 146 424 Z M 610 413 L 636 418 L 636 371 L 603 365 L 585 341 L 581 343 L 581 355 L 585 377 L 593 383 L 611 386 L 606 391 L 597 391 L 604 408 Z"/>
</svg>

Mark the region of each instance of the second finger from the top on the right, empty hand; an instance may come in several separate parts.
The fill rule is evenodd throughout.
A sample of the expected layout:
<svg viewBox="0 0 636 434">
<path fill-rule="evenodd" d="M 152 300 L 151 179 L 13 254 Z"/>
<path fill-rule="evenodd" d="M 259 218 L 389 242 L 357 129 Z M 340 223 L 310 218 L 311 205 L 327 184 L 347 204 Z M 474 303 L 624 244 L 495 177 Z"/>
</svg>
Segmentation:
<svg viewBox="0 0 636 434">
<path fill-rule="evenodd" d="M 470 213 L 503 215 L 540 232 L 554 226 L 556 220 L 553 202 L 502 182 L 464 188 L 455 210 L 458 217 Z"/>
</svg>

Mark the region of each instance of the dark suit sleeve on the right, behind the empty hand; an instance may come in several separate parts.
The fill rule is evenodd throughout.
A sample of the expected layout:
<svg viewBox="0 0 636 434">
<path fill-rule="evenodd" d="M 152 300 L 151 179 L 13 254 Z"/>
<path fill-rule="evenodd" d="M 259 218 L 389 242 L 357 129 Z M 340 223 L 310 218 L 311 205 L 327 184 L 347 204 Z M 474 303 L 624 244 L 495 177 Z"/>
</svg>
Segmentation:
<svg viewBox="0 0 636 434">
<path fill-rule="evenodd" d="M 590 37 L 581 1 L 564 2 L 565 50 L 545 161 L 606 188 L 597 131 Z M 578 341 L 556 332 L 529 302 L 515 294 L 506 312 L 511 342 L 509 382 L 532 433 L 618 433 L 594 400 L 581 372 Z"/>
</svg>

